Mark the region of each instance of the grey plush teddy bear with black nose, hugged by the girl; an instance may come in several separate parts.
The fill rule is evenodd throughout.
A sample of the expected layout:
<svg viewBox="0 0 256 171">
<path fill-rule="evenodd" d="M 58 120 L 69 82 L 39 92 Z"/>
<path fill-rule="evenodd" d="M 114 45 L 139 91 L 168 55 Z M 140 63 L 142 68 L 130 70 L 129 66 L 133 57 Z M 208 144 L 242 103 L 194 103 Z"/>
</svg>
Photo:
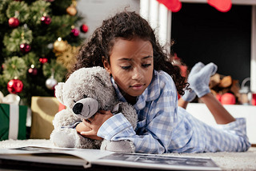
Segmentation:
<svg viewBox="0 0 256 171">
<path fill-rule="evenodd" d="M 54 130 L 50 141 L 58 147 L 78 149 L 105 149 L 117 152 L 134 152 L 131 141 L 92 140 L 82 137 L 75 126 L 83 119 L 94 116 L 99 109 L 110 110 L 113 114 L 122 113 L 135 129 L 138 117 L 134 107 L 118 101 L 110 74 L 101 66 L 81 68 L 70 74 L 66 82 L 58 82 L 55 96 L 66 105 L 54 116 Z"/>
</svg>

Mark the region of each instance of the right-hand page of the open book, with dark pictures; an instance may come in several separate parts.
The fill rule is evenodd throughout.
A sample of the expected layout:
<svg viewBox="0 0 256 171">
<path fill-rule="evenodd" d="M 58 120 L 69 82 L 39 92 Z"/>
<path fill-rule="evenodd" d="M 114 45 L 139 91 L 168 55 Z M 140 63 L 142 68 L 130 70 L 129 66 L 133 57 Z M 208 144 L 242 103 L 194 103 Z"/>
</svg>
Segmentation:
<svg viewBox="0 0 256 171">
<path fill-rule="evenodd" d="M 209 157 L 171 157 L 144 153 L 113 153 L 92 163 L 145 169 L 221 170 Z"/>
</svg>

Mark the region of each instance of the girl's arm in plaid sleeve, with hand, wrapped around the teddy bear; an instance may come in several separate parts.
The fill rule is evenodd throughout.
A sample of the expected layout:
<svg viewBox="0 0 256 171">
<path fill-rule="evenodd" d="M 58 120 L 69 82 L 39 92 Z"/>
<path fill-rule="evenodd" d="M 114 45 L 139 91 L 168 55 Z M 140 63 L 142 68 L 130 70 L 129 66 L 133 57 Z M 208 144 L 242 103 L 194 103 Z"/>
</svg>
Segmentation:
<svg viewBox="0 0 256 171">
<path fill-rule="evenodd" d="M 97 125 L 96 121 L 91 121 L 91 123 L 86 121 L 85 124 L 94 131 L 81 134 L 85 137 L 97 135 L 110 141 L 133 141 L 137 153 L 166 153 L 171 143 L 172 131 L 176 125 L 177 107 L 175 105 L 177 102 L 170 94 L 163 94 L 163 96 L 150 105 L 152 109 L 149 109 L 150 112 L 145 120 L 138 122 L 138 129 L 142 125 L 139 130 L 142 133 L 136 134 L 126 117 L 122 113 L 118 113 L 102 122 L 101 126 Z M 168 101 L 166 101 L 167 97 L 169 98 Z M 165 107 L 159 105 L 163 103 L 165 103 Z M 102 113 L 108 115 L 110 111 L 102 111 Z M 105 114 L 100 114 L 99 117 Z"/>
</svg>

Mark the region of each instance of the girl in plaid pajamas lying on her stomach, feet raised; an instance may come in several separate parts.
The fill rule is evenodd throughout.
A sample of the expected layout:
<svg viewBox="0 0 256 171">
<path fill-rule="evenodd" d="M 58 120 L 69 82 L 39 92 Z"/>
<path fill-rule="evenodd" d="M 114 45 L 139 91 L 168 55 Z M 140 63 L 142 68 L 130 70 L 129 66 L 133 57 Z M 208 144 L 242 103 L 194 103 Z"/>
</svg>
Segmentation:
<svg viewBox="0 0 256 171">
<path fill-rule="evenodd" d="M 188 78 L 192 90 L 188 89 L 178 67 L 159 46 L 154 30 L 138 14 L 116 14 L 94 31 L 79 51 L 73 70 L 92 66 L 105 67 L 120 101 L 134 105 L 138 125 L 134 131 L 122 113 L 99 111 L 78 124 L 82 136 L 128 140 L 136 153 L 246 151 L 250 147 L 246 121 L 234 119 L 210 93 L 210 76 L 217 66 L 196 64 Z M 183 95 L 179 101 L 178 93 Z M 217 127 L 186 112 L 196 95 L 213 113 Z"/>
</svg>

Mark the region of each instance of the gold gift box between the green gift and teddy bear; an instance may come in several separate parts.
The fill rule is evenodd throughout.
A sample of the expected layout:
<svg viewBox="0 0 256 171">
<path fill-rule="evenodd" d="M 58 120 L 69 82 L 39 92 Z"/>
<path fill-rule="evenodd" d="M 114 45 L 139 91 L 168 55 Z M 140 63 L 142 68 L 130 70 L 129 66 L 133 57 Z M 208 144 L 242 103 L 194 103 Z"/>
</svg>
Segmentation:
<svg viewBox="0 0 256 171">
<path fill-rule="evenodd" d="M 60 103 L 56 97 L 32 97 L 30 138 L 50 139 L 54 129 L 53 120 Z"/>
</svg>

